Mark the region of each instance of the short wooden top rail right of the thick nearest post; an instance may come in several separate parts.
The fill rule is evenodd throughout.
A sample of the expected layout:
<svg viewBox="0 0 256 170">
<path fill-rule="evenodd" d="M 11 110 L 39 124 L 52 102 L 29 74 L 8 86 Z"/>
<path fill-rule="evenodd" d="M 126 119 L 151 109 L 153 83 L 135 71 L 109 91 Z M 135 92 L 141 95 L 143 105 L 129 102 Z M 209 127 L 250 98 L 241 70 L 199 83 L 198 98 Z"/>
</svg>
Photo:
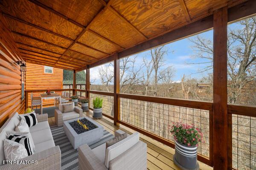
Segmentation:
<svg viewBox="0 0 256 170">
<path fill-rule="evenodd" d="M 238 115 L 242 115 L 242 116 L 256 117 L 256 106 L 255 105 L 228 104 L 227 112 L 229 114 L 238 114 Z"/>
</svg>

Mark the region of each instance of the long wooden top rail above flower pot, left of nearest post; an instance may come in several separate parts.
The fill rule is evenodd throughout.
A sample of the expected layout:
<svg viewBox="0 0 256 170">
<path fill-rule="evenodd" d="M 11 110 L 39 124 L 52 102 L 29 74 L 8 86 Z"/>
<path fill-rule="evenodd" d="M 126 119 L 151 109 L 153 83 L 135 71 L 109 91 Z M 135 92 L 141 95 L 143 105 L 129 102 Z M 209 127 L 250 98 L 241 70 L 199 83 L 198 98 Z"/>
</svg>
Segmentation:
<svg viewBox="0 0 256 170">
<path fill-rule="evenodd" d="M 207 111 L 212 111 L 212 102 L 201 102 L 197 100 L 187 100 L 187 99 L 174 99 L 166 97 L 155 97 L 155 96 L 143 96 L 134 94 L 117 94 L 121 98 L 141 100 L 145 102 L 161 103 L 165 105 L 174 105 L 186 108 L 202 109 Z"/>
</svg>

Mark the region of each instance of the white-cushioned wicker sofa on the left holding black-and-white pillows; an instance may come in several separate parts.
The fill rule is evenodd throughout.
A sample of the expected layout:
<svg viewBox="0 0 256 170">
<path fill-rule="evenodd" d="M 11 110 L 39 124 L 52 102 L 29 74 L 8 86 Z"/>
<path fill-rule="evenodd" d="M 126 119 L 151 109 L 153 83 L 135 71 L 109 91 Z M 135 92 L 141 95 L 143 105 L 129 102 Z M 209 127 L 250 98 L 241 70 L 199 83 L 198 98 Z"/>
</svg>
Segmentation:
<svg viewBox="0 0 256 170">
<path fill-rule="evenodd" d="M 36 114 L 38 124 L 29 128 L 35 144 L 35 152 L 20 161 L 37 161 L 37 164 L 2 164 L 5 160 L 3 140 L 7 139 L 6 132 L 15 131 L 20 122 L 18 113 L 10 117 L 0 129 L 0 170 L 60 170 L 61 150 L 55 146 L 48 123 L 47 114 Z"/>
</svg>

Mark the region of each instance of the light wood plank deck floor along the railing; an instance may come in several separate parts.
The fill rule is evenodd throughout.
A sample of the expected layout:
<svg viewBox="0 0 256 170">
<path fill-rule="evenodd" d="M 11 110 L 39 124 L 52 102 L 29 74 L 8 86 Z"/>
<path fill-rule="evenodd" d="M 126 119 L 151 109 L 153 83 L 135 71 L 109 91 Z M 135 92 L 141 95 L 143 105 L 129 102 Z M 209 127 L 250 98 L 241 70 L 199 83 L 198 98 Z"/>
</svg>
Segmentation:
<svg viewBox="0 0 256 170">
<path fill-rule="evenodd" d="M 84 112 L 84 116 L 92 117 L 92 114 L 89 112 Z M 112 134 L 114 134 L 114 131 L 118 129 L 128 133 L 134 133 L 134 130 L 123 125 L 113 125 L 113 121 L 105 116 L 103 116 L 102 119 L 98 119 L 96 121 Z M 54 125 L 54 117 L 48 118 L 48 122 L 49 125 Z M 175 152 L 174 149 L 143 134 L 140 134 L 140 140 L 145 142 L 148 147 L 148 170 L 180 170 L 180 168 L 178 168 L 173 162 L 173 154 Z M 212 167 L 209 167 L 202 162 L 199 162 L 199 165 L 201 170 L 212 170 Z"/>
</svg>

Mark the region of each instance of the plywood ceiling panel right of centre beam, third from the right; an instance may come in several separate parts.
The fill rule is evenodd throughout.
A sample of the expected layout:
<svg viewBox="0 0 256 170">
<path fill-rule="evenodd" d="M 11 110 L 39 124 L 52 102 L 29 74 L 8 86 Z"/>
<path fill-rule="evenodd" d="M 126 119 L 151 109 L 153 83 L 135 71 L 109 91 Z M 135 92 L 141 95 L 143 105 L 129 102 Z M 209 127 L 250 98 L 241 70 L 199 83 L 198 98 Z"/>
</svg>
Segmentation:
<svg viewBox="0 0 256 170">
<path fill-rule="evenodd" d="M 124 48 L 145 40 L 126 22 L 117 17 L 116 14 L 113 14 L 109 8 L 105 9 L 97 19 L 93 20 L 90 29 Z"/>
</svg>

